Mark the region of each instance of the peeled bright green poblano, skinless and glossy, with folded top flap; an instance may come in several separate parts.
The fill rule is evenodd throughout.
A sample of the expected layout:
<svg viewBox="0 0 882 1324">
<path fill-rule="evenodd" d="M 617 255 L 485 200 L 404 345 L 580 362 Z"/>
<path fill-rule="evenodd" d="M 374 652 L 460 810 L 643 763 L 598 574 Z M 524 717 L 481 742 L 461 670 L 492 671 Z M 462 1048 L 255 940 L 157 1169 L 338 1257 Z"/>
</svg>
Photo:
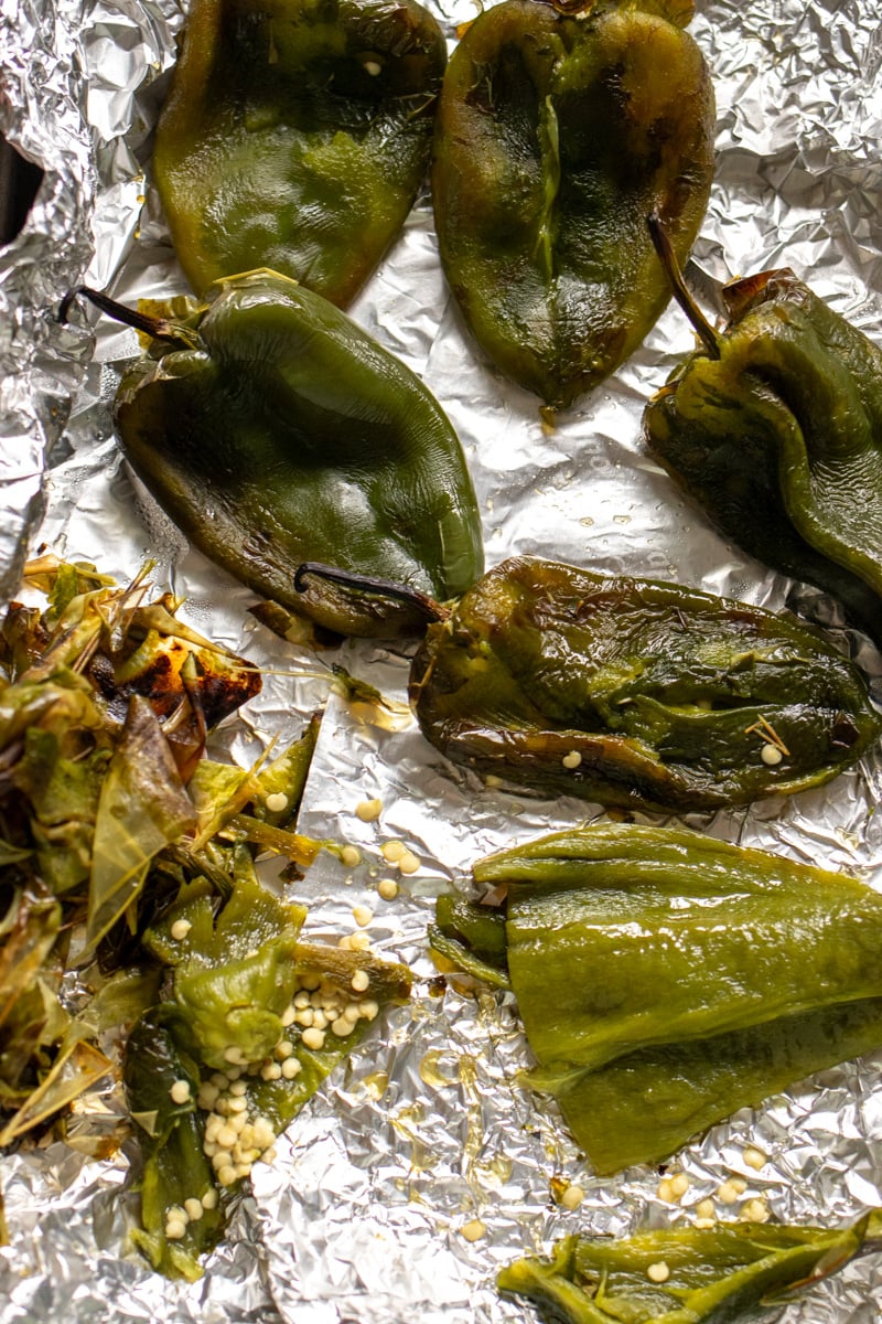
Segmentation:
<svg viewBox="0 0 882 1324">
<path fill-rule="evenodd" d="M 882 1045 L 882 895 L 854 878 L 623 824 L 473 876 L 502 907 L 442 899 L 432 947 L 514 990 L 538 1063 L 524 1080 L 599 1173 Z"/>
</svg>

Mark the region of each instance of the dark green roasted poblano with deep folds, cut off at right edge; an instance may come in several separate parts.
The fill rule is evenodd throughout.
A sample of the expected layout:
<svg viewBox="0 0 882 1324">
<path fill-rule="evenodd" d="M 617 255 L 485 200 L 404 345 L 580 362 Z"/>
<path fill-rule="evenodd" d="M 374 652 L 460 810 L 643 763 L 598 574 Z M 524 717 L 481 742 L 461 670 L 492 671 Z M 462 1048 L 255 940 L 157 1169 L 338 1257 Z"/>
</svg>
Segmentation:
<svg viewBox="0 0 882 1324">
<path fill-rule="evenodd" d="M 649 450 L 726 538 L 881 645 L 882 351 L 787 269 L 723 297 L 718 357 L 697 350 L 649 402 Z"/>
</svg>

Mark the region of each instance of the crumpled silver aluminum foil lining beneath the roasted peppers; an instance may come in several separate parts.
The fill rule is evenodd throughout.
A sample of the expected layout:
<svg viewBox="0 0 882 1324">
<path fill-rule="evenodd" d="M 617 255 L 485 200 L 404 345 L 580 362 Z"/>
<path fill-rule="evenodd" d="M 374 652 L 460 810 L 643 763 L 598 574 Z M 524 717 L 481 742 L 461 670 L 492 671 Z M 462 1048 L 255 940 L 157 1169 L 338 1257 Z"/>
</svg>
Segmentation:
<svg viewBox="0 0 882 1324">
<path fill-rule="evenodd" d="M 469 0 L 434 4 L 452 34 Z M 874 0 L 698 0 L 692 25 L 718 101 L 718 164 L 692 278 L 714 282 L 775 265 L 807 275 L 837 311 L 882 331 L 882 42 Z M 46 171 L 22 234 L 0 252 L 0 573 L 7 592 L 25 552 L 46 543 L 124 577 L 145 557 L 188 598 L 186 617 L 267 669 L 261 700 L 230 724 L 246 761 L 274 732 L 291 737 L 327 700 L 301 829 L 360 846 L 344 870 L 321 857 L 300 892 L 311 927 L 337 935 L 352 908 L 374 912 L 377 951 L 413 964 L 413 1004 L 395 1009 L 296 1119 L 196 1284 L 168 1283 L 126 1246 L 136 1147 L 90 1156 L 90 1128 L 119 1124 L 112 1082 L 83 1102 L 74 1145 L 22 1148 L 3 1161 L 12 1243 L 0 1250 L 0 1324 L 159 1320 L 206 1324 L 500 1324 L 534 1319 L 501 1300 L 495 1271 L 567 1231 L 627 1233 L 689 1222 L 741 1177 L 734 1217 L 763 1198 L 775 1219 L 841 1223 L 882 1205 L 882 1054 L 822 1072 L 744 1110 L 676 1160 L 688 1190 L 660 1198 L 659 1174 L 598 1180 L 553 1106 L 516 1080 L 529 1050 L 510 997 L 434 994 L 426 923 L 434 896 L 491 850 L 599 814 L 577 801 L 488 790 L 454 772 L 413 724 L 356 720 L 328 686 L 328 655 L 282 645 L 247 616 L 253 598 L 210 567 L 132 481 L 108 404 L 134 332 L 82 316 L 54 320 L 77 283 L 116 297 L 185 293 L 149 181 L 151 128 L 175 60 L 175 0 L 0 3 L 0 128 Z M 860 657 L 882 694 L 878 655 L 842 630 L 833 602 L 771 575 L 723 543 L 647 458 L 645 397 L 690 347 L 676 308 L 610 383 L 554 432 L 537 401 L 499 379 L 468 342 L 438 263 L 426 197 L 353 308 L 421 373 L 465 446 L 484 515 L 488 563 L 537 553 L 603 571 L 676 579 L 771 608 L 812 612 Z M 345 645 L 335 661 L 403 699 L 407 657 Z M 874 808 L 882 757 L 834 784 L 768 798 L 692 826 L 882 882 Z M 354 814 L 380 797 L 377 824 Z M 381 900 L 381 855 L 405 841 L 421 870 Z M 79 1136 L 79 1143 L 77 1143 Z M 756 1147 L 767 1161 L 746 1160 Z M 578 1185 L 565 1210 L 553 1185 Z M 882 1256 L 785 1312 L 787 1324 L 870 1324 L 882 1313 Z"/>
</svg>

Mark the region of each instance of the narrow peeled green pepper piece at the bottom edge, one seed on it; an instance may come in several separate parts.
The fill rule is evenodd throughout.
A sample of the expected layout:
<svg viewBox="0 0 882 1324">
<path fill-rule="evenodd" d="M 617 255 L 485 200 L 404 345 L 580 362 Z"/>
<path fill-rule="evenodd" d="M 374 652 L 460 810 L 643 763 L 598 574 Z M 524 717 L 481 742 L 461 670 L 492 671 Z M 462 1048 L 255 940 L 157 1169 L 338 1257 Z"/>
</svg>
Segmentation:
<svg viewBox="0 0 882 1324">
<path fill-rule="evenodd" d="M 836 1230 L 741 1222 L 566 1237 L 550 1260 L 518 1259 L 496 1282 L 555 1324 L 771 1324 L 881 1234 L 874 1211 Z"/>
</svg>

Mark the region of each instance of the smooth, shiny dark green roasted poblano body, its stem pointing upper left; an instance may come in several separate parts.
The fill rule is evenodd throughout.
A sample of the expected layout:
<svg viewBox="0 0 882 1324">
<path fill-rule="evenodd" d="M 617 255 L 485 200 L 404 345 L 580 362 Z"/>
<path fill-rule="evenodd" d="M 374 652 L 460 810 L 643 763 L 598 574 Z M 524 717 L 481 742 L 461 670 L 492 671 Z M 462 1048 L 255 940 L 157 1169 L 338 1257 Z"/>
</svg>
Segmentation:
<svg viewBox="0 0 882 1324">
<path fill-rule="evenodd" d="M 381 596 L 296 593 L 324 560 L 450 597 L 483 567 L 465 461 L 440 406 L 344 312 L 272 271 L 218 282 L 123 379 L 135 471 L 210 560 L 341 634 L 419 626 Z"/>
</svg>

